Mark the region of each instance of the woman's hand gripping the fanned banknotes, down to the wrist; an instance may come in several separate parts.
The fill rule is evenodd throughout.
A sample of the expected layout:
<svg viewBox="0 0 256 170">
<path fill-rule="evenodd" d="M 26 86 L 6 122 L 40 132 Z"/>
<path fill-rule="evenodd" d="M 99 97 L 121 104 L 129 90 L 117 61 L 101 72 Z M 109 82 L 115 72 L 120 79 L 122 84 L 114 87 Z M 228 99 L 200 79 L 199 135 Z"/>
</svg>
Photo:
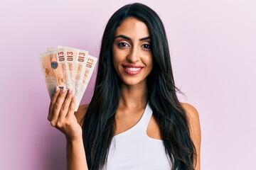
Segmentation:
<svg viewBox="0 0 256 170">
<path fill-rule="evenodd" d="M 65 134 L 68 140 L 76 140 L 82 137 L 82 128 L 75 118 L 75 95 L 65 87 L 56 86 L 55 93 L 50 100 L 48 120 L 50 125 Z"/>
</svg>

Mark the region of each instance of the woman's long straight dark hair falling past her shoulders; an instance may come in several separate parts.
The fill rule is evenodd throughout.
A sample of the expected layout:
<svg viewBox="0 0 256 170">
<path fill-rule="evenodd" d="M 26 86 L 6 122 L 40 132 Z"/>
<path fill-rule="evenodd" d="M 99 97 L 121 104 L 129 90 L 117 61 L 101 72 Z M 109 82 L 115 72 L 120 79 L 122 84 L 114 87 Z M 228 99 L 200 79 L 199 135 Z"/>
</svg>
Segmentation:
<svg viewBox="0 0 256 170">
<path fill-rule="evenodd" d="M 117 27 L 129 17 L 144 22 L 149 29 L 154 67 L 147 77 L 148 100 L 159 124 L 172 169 L 194 169 L 196 149 L 190 137 L 188 118 L 176 96 L 178 89 L 174 85 L 164 26 L 156 12 L 139 3 L 119 8 L 108 21 L 102 37 L 95 91 L 82 131 L 88 168 L 102 169 L 107 162 L 114 136 L 120 84 L 112 62 L 112 43 Z"/>
</svg>

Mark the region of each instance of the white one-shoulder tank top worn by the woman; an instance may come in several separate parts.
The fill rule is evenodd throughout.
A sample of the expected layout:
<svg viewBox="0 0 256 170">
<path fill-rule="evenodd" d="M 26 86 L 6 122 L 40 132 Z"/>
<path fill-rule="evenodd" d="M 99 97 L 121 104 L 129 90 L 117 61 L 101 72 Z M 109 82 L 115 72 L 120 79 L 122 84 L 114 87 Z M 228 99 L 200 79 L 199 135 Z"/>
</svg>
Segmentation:
<svg viewBox="0 0 256 170">
<path fill-rule="evenodd" d="M 149 103 L 142 118 L 129 130 L 113 137 L 105 169 L 107 170 L 170 170 L 169 156 L 163 140 L 146 135 L 152 115 Z"/>
</svg>

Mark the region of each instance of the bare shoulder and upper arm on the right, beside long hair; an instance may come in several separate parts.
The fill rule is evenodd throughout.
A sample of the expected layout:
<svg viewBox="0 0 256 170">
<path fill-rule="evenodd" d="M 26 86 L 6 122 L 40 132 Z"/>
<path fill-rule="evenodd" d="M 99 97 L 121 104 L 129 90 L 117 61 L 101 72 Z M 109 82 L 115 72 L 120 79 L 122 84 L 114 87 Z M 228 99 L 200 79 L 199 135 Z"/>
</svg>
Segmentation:
<svg viewBox="0 0 256 170">
<path fill-rule="evenodd" d="M 188 124 L 191 132 L 191 139 L 196 147 L 196 170 L 200 170 L 200 152 L 201 152 L 201 128 L 198 111 L 188 103 L 181 103 L 188 116 Z"/>
</svg>

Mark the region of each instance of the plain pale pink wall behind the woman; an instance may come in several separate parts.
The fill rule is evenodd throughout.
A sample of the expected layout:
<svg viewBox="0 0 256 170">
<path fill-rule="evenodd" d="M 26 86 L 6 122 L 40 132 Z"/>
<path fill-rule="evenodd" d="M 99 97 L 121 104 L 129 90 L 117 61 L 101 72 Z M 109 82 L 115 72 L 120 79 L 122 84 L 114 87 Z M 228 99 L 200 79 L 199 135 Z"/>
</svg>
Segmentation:
<svg viewBox="0 0 256 170">
<path fill-rule="evenodd" d="M 46 120 L 38 53 L 65 45 L 97 56 L 107 20 L 130 2 L 0 2 L 0 169 L 65 169 L 65 137 Z M 140 2 L 164 21 L 181 101 L 200 113 L 202 169 L 255 167 L 255 0 Z"/>
</svg>

